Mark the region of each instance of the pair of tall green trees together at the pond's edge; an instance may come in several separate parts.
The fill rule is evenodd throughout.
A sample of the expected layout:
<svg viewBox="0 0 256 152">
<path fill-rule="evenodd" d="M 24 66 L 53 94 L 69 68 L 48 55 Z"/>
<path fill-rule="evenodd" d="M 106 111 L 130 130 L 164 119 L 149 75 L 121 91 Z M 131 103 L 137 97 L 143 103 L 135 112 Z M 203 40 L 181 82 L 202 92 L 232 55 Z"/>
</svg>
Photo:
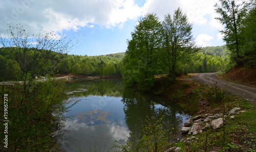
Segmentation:
<svg viewBox="0 0 256 152">
<path fill-rule="evenodd" d="M 142 17 L 132 39 L 127 41 L 123 77 L 126 85 L 148 90 L 154 85 L 154 77 L 169 71 L 176 80 L 178 64 L 186 63 L 201 49 L 195 45 L 192 24 L 181 9 L 160 21 L 155 13 Z"/>
</svg>

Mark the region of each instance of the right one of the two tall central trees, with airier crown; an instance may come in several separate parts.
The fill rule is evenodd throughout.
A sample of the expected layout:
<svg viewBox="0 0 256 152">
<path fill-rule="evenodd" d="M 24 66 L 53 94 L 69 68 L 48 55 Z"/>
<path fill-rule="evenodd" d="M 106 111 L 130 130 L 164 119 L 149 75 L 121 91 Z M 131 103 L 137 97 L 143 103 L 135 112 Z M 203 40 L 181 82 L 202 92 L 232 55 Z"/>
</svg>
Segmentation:
<svg viewBox="0 0 256 152">
<path fill-rule="evenodd" d="M 192 35 L 192 24 L 178 8 L 174 11 L 173 17 L 165 15 L 163 25 L 163 56 L 164 63 L 169 69 L 169 75 L 173 81 L 176 80 L 177 64 L 191 60 L 200 47 L 197 47 Z"/>
</svg>

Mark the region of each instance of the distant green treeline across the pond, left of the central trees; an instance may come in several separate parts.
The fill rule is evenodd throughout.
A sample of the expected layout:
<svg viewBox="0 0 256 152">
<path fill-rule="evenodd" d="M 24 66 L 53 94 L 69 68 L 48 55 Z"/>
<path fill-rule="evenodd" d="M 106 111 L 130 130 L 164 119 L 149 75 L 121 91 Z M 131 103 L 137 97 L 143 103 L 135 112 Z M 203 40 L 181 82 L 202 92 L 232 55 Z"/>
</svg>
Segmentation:
<svg viewBox="0 0 256 152">
<path fill-rule="evenodd" d="M 20 68 L 20 63 L 14 55 L 9 54 L 8 50 L 13 48 L 0 48 L 0 81 L 20 81 L 23 80 L 23 72 Z M 32 60 L 35 54 L 35 48 L 28 48 L 27 59 Z M 54 54 L 54 53 L 52 53 Z M 57 54 L 53 60 L 47 61 L 46 64 L 39 64 L 44 60 L 44 54 L 38 57 L 34 61 L 35 64 L 31 67 L 28 78 L 32 78 L 33 75 L 38 78 L 41 75 L 53 75 L 53 74 L 82 74 L 82 75 L 110 75 L 121 74 L 122 72 L 122 59 L 124 53 L 109 54 L 101 56 L 78 56 L 68 54 Z M 37 64 L 38 63 L 38 64 Z M 34 69 L 38 69 L 37 75 Z"/>
</svg>

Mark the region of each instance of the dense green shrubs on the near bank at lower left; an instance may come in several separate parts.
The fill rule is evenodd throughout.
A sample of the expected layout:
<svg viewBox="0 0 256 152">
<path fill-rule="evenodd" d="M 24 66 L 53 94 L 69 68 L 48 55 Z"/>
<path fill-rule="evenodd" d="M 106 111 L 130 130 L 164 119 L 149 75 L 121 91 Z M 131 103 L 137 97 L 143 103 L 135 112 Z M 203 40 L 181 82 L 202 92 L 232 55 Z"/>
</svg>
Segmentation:
<svg viewBox="0 0 256 152">
<path fill-rule="evenodd" d="M 63 116 L 70 107 L 65 101 L 65 82 L 47 81 L 33 83 L 23 96 L 23 87 L 2 86 L 0 91 L 2 113 L 0 120 L 9 120 L 8 133 L 1 125 L 1 139 L 8 135 L 8 148 L 0 143 L 1 151 L 49 151 L 53 141 L 53 132 L 61 131 Z M 4 117 L 4 97 L 7 105 Z M 7 102 L 6 102 L 7 101 Z"/>
</svg>

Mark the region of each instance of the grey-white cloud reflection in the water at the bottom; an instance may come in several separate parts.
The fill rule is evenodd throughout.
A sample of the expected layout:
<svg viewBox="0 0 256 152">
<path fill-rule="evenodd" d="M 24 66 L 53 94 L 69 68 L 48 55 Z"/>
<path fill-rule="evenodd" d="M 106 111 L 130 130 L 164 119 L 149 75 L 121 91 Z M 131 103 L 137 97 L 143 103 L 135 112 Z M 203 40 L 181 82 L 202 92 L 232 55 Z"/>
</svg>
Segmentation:
<svg viewBox="0 0 256 152">
<path fill-rule="evenodd" d="M 123 124 L 122 120 L 119 120 L 118 123 L 100 122 L 95 124 L 93 121 L 81 122 L 79 119 L 74 118 L 66 122 L 66 129 L 71 132 L 58 139 L 58 143 L 61 148 L 67 151 L 79 149 L 84 151 L 89 150 L 90 147 L 94 149 L 95 145 L 97 145 L 96 148 L 98 150 L 106 151 L 110 148 L 107 145 L 112 145 L 112 143 L 115 143 L 115 140 L 121 142 L 128 140 L 130 131 Z M 87 138 L 84 138 L 85 136 Z"/>
</svg>

